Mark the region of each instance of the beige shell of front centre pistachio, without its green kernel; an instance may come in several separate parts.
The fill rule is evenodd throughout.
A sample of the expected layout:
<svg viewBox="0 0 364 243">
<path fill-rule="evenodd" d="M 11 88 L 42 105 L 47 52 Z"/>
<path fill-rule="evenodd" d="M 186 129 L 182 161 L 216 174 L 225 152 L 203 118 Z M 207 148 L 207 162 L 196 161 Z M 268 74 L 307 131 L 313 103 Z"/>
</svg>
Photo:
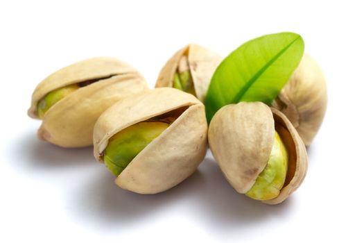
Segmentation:
<svg viewBox="0 0 364 243">
<path fill-rule="evenodd" d="M 182 182 L 205 158 L 205 106 L 180 90 L 157 88 L 125 99 L 107 109 L 94 128 L 94 156 L 103 162 L 103 150 L 114 134 L 177 108 L 188 107 L 171 126 L 150 142 L 116 178 L 120 187 L 141 194 L 163 192 Z"/>
</svg>

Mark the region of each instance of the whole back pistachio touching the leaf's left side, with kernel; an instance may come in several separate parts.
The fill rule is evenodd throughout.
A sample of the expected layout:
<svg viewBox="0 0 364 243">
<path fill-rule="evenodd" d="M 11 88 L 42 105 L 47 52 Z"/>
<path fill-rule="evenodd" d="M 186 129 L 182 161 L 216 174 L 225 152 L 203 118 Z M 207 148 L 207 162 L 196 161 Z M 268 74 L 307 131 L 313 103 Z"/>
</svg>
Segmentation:
<svg viewBox="0 0 364 243">
<path fill-rule="evenodd" d="M 211 77 L 222 60 L 205 47 L 189 44 L 164 65 L 155 87 L 175 87 L 204 102 Z"/>
</svg>

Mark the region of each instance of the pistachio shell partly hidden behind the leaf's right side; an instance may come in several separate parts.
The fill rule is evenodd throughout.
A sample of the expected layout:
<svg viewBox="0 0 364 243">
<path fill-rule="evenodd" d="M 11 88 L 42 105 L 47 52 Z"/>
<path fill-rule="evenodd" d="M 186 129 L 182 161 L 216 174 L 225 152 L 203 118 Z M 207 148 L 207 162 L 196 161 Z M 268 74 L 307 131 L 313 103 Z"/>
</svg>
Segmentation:
<svg viewBox="0 0 364 243">
<path fill-rule="evenodd" d="M 327 108 L 324 74 L 311 56 L 304 54 L 288 83 L 272 106 L 288 117 L 304 144 L 311 144 Z"/>
</svg>

